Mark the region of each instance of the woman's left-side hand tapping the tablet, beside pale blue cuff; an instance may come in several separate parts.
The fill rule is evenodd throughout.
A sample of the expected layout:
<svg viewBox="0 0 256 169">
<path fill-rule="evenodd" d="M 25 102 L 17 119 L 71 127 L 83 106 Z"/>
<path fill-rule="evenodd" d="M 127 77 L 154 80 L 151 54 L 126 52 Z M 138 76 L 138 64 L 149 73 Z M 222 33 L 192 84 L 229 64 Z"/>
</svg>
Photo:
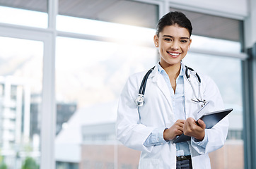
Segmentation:
<svg viewBox="0 0 256 169">
<path fill-rule="evenodd" d="M 183 133 L 183 126 L 184 126 L 185 120 L 177 120 L 172 127 L 166 129 L 163 132 L 163 138 L 166 141 L 169 141 L 171 139 L 174 139 L 176 136 Z"/>
</svg>

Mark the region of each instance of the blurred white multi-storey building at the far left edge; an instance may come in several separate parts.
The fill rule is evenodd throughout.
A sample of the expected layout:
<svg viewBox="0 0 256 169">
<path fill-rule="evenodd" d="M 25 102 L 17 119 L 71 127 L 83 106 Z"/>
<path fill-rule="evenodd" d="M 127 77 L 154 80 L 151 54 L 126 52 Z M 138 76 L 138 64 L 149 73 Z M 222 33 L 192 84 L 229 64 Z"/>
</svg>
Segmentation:
<svg viewBox="0 0 256 169">
<path fill-rule="evenodd" d="M 13 167 L 21 161 L 20 144 L 29 144 L 30 83 L 23 78 L 0 77 L 0 147 L 1 156 Z M 15 149 L 13 149 L 13 147 Z M 21 154 L 19 154 L 21 153 Z M 19 154 L 19 155 L 18 155 Z"/>
</svg>

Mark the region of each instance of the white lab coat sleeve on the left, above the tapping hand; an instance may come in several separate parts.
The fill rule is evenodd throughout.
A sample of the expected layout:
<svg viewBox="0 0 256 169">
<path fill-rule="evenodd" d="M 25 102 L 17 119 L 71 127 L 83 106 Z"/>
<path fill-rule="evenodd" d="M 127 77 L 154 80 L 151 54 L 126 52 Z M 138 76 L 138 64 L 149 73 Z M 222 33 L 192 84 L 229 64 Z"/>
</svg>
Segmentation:
<svg viewBox="0 0 256 169">
<path fill-rule="evenodd" d="M 116 135 L 117 139 L 131 149 L 151 152 L 153 146 L 144 146 L 155 127 L 142 125 L 139 120 L 139 111 L 134 99 L 138 95 L 142 77 L 129 77 L 125 84 L 117 108 Z"/>
</svg>

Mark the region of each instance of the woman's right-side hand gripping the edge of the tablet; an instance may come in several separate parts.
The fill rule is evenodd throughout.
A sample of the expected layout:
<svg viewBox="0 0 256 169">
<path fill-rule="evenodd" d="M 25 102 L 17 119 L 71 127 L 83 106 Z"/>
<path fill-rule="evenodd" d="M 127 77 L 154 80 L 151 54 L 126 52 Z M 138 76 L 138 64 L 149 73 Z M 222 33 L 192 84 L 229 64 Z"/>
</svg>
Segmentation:
<svg viewBox="0 0 256 169">
<path fill-rule="evenodd" d="M 199 119 L 198 123 L 196 123 L 196 120 L 193 118 L 187 118 L 184 123 L 183 132 L 185 135 L 202 141 L 205 135 L 205 127 L 206 125 L 203 120 Z"/>
</svg>

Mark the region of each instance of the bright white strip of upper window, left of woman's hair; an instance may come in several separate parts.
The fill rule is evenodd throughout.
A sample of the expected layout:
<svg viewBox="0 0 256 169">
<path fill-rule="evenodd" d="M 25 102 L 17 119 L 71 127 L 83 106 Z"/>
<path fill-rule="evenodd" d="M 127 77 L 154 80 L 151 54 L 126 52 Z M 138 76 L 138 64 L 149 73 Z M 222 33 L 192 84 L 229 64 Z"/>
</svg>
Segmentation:
<svg viewBox="0 0 256 169">
<path fill-rule="evenodd" d="M 74 18 L 71 16 L 57 15 L 57 30 L 74 32 L 86 35 L 111 37 L 122 39 L 125 42 L 152 42 L 154 29 L 107 23 L 99 20 Z M 136 38 L 136 41 L 134 38 Z"/>
</svg>

